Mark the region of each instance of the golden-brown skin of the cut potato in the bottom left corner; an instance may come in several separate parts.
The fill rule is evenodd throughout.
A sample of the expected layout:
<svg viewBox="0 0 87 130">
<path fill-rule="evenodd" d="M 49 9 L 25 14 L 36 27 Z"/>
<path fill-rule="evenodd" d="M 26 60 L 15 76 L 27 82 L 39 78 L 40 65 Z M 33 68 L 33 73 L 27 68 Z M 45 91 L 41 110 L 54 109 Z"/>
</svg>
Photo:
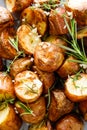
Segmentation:
<svg viewBox="0 0 87 130">
<path fill-rule="evenodd" d="M 0 130 L 19 130 L 22 125 L 21 119 L 15 113 L 13 106 L 8 105 L 7 107 L 9 109 L 9 112 L 5 120 L 2 123 L 0 123 Z"/>
</svg>

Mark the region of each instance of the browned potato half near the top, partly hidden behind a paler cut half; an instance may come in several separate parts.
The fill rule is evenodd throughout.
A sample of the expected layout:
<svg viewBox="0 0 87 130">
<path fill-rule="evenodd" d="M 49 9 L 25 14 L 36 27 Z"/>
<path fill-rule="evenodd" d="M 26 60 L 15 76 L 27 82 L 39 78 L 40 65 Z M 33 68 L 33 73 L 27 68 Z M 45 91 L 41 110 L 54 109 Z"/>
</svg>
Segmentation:
<svg viewBox="0 0 87 130">
<path fill-rule="evenodd" d="M 32 8 L 28 7 L 22 12 L 21 21 L 22 23 L 36 27 L 38 34 L 43 36 L 47 30 L 47 16 L 42 9 Z"/>
</svg>

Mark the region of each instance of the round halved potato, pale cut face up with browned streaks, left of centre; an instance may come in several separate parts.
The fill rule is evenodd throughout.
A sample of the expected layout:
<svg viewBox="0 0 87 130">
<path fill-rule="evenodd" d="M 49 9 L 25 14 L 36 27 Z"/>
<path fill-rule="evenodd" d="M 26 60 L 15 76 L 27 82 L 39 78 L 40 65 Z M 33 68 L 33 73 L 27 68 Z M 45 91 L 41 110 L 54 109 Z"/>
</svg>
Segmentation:
<svg viewBox="0 0 87 130">
<path fill-rule="evenodd" d="M 14 79 L 15 93 L 18 99 L 27 103 L 36 101 L 43 91 L 43 84 L 32 71 L 18 73 Z"/>
</svg>

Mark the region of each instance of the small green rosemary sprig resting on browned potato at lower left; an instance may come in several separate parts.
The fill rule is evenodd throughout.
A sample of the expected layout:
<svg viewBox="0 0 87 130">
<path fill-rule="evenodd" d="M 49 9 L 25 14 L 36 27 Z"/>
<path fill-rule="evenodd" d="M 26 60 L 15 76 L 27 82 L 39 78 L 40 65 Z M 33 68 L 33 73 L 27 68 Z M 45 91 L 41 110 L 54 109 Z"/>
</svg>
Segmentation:
<svg viewBox="0 0 87 130">
<path fill-rule="evenodd" d="M 31 108 L 28 106 L 26 106 L 24 103 L 17 101 L 17 104 L 25 111 L 23 113 L 20 114 L 20 116 L 26 115 L 26 114 L 31 114 L 33 116 L 35 116 L 35 114 L 33 113 L 33 111 L 31 110 Z"/>
</svg>

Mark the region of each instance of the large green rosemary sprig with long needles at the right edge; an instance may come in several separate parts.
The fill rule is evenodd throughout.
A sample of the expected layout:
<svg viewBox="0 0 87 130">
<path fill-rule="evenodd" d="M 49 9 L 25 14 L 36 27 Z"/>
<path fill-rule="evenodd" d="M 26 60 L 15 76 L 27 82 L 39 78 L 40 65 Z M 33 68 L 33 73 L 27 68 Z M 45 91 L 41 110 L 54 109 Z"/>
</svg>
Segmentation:
<svg viewBox="0 0 87 130">
<path fill-rule="evenodd" d="M 87 64 L 87 56 L 85 53 L 84 45 L 83 45 L 83 39 L 81 39 L 81 47 L 78 44 L 77 41 L 77 22 L 74 18 L 70 20 L 70 25 L 68 24 L 66 18 L 64 17 L 64 21 L 66 24 L 66 27 L 69 31 L 69 34 L 71 36 L 71 41 L 68 41 L 67 39 L 64 39 L 67 43 L 71 45 L 71 47 L 67 47 L 64 45 L 60 45 L 63 49 L 67 50 L 68 55 L 74 56 L 76 59 L 72 60 L 73 62 L 77 62 L 80 64 Z"/>
</svg>

